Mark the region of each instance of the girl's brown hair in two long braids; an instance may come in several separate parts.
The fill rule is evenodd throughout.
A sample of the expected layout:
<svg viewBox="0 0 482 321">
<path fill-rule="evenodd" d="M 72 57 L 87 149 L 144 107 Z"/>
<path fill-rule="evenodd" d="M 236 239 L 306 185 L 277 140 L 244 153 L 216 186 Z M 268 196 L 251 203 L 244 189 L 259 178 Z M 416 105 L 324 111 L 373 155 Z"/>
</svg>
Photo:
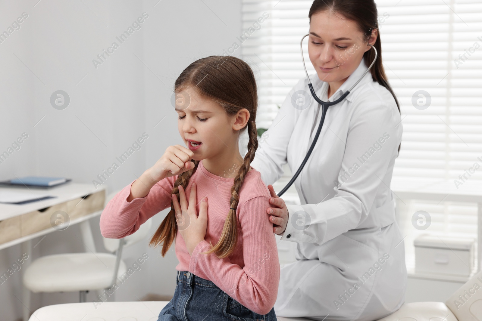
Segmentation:
<svg viewBox="0 0 482 321">
<path fill-rule="evenodd" d="M 231 187 L 229 207 L 234 209 L 229 209 L 219 241 L 209 251 L 202 252 L 202 254 L 215 253 L 217 257 L 224 258 L 231 255 L 237 243 L 238 219 L 236 208 L 239 202 L 239 191 L 258 148 L 255 124 L 258 106 L 256 80 L 251 67 L 241 59 L 233 56 L 209 56 L 188 65 L 177 77 L 174 83 L 174 92 L 178 93 L 187 88 L 192 88 L 201 97 L 220 104 L 228 117 L 235 116 L 244 108 L 249 111 L 247 126 L 239 130 L 239 135 L 248 130 L 249 142 L 248 152 L 244 156 L 244 161 Z M 174 182 L 171 194 L 176 194 L 178 200 L 178 186 L 182 185 L 186 189 L 189 179 L 196 172 L 200 162 L 199 160 L 192 161 L 194 162 L 194 168 L 181 173 Z M 174 203 L 171 200 L 171 211 L 161 222 L 149 245 L 155 247 L 162 243 L 161 255 L 164 257 L 173 243 L 176 233 L 176 216 Z"/>
</svg>

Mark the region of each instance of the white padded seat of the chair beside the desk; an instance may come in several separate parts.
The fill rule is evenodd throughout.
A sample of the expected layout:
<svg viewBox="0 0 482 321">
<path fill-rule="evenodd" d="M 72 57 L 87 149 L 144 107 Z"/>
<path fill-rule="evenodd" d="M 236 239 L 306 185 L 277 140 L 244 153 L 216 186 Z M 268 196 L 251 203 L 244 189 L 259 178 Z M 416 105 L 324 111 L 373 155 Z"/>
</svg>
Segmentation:
<svg viewBox="0 0 482 321">
<path fill-rule="evenodd" d="M 115 255 L 109 253 L 48 255 L 27 267 L 23 282 L 34 293 L 105 289 L 112 285 L 115 262 Z M 125 271 L 120 261 L 118 276 Z"/>
</svg>

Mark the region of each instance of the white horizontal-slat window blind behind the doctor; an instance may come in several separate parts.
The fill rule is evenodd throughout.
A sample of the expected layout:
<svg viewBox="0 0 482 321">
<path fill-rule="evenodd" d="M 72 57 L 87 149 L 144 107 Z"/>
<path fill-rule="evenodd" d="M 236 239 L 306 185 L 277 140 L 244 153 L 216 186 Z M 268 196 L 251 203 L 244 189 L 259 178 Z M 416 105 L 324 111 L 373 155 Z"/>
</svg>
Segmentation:
<svg viewBox="0 0 482 321">
<path fill-rule="evenodd" d="M 480 0 L 377 0 L 382 58 L 402 111 L 402 148 L 393 180 L 482 180 L 482 2 Z M 268 128 L 278 105 L 301 77 L 299 42 L 308 33 L 312 1 L 243 0 L 243 31 L 269 17 L 241 45 L 258 83 L 258 128 Z M 308 74 L 315 73 L 304 41 Z M 423 91 L 420 91 L 423 90 Z M 477 164 L 480 167 L 477 169 Z M 476 168 L 477 167 L 477 168 Z M 418 210 L 432 224 L 411 226 Z M 407 267 L 421 232 L 476 237 L 477 209 L 467 203 L 407 205 L 403 228 Z M 403 224 L 402 224 L 403 225 Z"/>
</svg>

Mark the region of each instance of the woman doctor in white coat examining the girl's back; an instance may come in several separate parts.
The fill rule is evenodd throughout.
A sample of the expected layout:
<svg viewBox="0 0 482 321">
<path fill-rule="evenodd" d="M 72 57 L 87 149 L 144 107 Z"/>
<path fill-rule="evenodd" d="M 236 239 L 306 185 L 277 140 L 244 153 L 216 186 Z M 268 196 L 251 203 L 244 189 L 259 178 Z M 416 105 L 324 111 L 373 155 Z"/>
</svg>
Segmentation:
<svg viewBox="0 0 482 321">
<path fill-rule="evenodd" d="M 285 204 L 271 185 L 273 231 L 296 242 L 296 261 L 281 267 L 277 316 L 371 321 L 404 303 L 403 236 L 390 190 L 402 139 L 398 102 L 382 65 L 373 0 L 315 0 L 308 54 L 314 90 L 334 101 L 375 58 L 372 69 L 328 108 L 320 137 L 295 180 L 301 205 Z M 321 117 L 303 77 L 288 93 L 252 166 L 266 184 L 300 166 Z M 270 210 L 273 210 L 270 213 Z M 281 241 L 281 242 L 283 242 Z"/>
</svg>

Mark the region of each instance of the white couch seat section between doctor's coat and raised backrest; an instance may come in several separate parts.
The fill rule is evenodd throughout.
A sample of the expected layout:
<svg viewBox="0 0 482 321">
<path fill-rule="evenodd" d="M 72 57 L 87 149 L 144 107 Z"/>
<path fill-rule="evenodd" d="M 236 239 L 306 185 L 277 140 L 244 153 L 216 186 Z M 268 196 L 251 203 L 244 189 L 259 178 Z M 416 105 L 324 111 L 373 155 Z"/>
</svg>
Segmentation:
<svg viewBox="0 0 482 321">
<path fill-rule="evenodd" d="M 457 321 L 455 315 L 442 302 L 405 303 L 394 313 L 378 321 Z M 465 320 L 460 320 L 465 321 Z"/>
</svg>

